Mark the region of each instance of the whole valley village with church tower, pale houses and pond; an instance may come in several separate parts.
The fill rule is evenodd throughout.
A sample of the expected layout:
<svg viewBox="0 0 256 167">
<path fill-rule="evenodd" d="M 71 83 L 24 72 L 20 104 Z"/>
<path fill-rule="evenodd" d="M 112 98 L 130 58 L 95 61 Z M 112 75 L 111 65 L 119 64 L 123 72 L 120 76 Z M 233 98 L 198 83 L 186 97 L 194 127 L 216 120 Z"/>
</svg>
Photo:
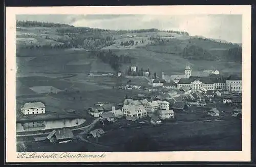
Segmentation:
<svg viewBox="0 0 256 167">
<path fill-rule="evenodd" d="M 131 70 L 136 71 L 136 67 L 132 66 Z M 117 77 L 122 75 L 119 73 Z M 61 144 L 80 139 L 94 145 L 108 145 L 101 138 L 115 129 L 242 119 L 242 79 L 238 76 L 222 76 L 218 70 L 192 71 L 189 65 L 185 67 L 184 76 L 162 73 L 161 77 L 150 78 L 146 72 L 144 75 L 148 86 L 127 83 L 118 87 L 124 91 L 137 89 L 141 93 L 125 96 L 116 103 L 84 106 L 83 116 L 69 109 L 66 114 L 73 117 L 63 117 L 64 123 L 57 123 L 58 119 L 54 118 L 40 120 L 41 115 L 48 114 L 47 104 L 26 103 L 20 112 L 27 120 L 17 124 L 20 130 L 17 134 L 22 134 L 17 136 L 30 137 L 34 142 Z"/>
</svg>

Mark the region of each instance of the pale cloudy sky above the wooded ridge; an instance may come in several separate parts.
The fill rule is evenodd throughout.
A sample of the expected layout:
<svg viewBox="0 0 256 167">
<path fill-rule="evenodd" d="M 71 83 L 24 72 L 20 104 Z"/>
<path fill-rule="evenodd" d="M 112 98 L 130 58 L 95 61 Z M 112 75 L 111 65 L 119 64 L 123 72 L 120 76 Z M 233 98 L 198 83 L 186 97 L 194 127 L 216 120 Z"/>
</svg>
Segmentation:
<svg viewBox="0 0 256 167">
<path fill-rule="evenodd" d="M 242 15 L 16 15 L 16 19 L 111 30 L 178 30 L 242 43 Z"/>
</svg>

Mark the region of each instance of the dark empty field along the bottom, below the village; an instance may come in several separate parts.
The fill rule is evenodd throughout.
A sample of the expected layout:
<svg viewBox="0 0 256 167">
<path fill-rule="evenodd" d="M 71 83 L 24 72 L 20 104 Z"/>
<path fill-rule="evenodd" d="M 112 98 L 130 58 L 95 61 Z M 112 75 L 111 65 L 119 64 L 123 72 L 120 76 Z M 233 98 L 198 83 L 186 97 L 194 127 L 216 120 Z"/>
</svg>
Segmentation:
<svg viewBox="0 0 256 167">
<path fill-rule="evenodd" d="M 135 123 L 132 123 L 135 124 Z M 174 122 L 108 130 L 98 145 L 75 139 L 67 144 L 24 142 L 26 151 L 241 151 L 241 122 Z M 113 138 L 113 136 L 115 136 Z M 96 142 L 95 139 L 90 139 Z"/>
</svg>

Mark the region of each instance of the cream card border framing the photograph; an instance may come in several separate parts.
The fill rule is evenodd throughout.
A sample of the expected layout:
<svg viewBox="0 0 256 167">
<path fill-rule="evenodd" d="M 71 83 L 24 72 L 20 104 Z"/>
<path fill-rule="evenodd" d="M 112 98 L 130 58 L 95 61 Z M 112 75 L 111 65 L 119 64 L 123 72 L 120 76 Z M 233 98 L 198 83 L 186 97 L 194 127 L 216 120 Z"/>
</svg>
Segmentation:
<svg viewBox="0 0 256 167">
<path fill-rule="evenodd" d="M 16 14 L 242 14 L 243 121 L 241 152 L 106 152 L 104 158 L 17 158 L 15 125 Z M 6 7 L 6 162 L 250 161 L 251 6 Z M 50 153 L 49 153 L 50 154 Z M 72 152 L 72 154 L 75 154 Z M 90 154 L 90 153 L 88 153 Z M 95 152 L 91 154 L 96 154 Z M 97 153 L 101 154 L 101 153 Z"/>
</svg>

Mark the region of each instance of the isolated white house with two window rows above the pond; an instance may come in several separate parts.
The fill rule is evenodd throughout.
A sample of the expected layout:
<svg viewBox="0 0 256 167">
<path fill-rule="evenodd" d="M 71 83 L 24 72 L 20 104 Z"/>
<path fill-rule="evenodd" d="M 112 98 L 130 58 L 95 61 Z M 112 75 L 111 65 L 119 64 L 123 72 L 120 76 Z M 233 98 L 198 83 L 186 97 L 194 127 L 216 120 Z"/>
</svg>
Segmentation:
<svg viewBox="0 0 256 167">
<path fill-rule="evenodd" d="M 42 102 L 25 103 L 20 109 L 24 115 L 45 114 L 46 112 L 46 106 Z"/>
</svg>

